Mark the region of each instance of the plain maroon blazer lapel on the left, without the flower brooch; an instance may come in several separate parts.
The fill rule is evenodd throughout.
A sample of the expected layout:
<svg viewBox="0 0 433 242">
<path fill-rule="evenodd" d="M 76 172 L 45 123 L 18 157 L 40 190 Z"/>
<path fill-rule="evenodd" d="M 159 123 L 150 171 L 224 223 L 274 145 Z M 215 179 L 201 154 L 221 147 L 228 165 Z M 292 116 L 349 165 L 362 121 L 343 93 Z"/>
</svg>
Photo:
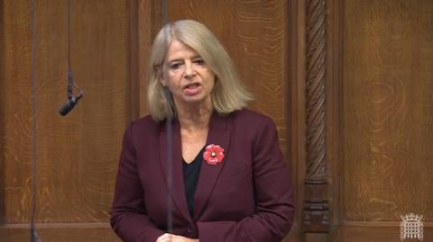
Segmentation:
<svg viewBox="0 0 433 242">
<path fill-rule="evenodd" d="M 180 127 L 178 121 L 172 121 L 171 125 L 171 150 L 168 148 L 167 142 L 167 122 L 161 123 L 160 132 L 160 156 L 161 156 L 161 166 L 162 171 L 165 176 L 165 181 L 171 181 L 172 185 L 172 201 L 176 205 L 178 211 L 187 220 L 191 221 L 191 216 L 189 215 L 187 199 L 185 195 L 185 186 L 183 181 L 183 167 L 182 167 L 182 150 L 180 141 Z M 171 152 L 171 171 L 170 165 L 168 163 L 168 156 Z M 170 175 L 171 173 L 171 175 Z M 170 180 L 168 180 L 171 178 Z M 167 189 L 169 188 L 167 183 Z M 167 190 L 168 191 L 168 190 Z"/>
</svg>

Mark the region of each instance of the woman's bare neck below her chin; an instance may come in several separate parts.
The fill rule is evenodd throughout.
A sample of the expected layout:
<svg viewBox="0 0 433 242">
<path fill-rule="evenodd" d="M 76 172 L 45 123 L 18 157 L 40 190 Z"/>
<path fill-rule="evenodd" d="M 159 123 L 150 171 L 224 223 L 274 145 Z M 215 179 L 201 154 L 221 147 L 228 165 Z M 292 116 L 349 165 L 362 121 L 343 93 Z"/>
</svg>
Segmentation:
<svg viewBox="0 0 433 242">
<path fill-rule="evenodd" d="M 209 127 L 212 115 L 212 103 L 199 103 L 197 105 L 176 105 L 180 129 L 195 131 L 204 130 Z"/>
</svg>

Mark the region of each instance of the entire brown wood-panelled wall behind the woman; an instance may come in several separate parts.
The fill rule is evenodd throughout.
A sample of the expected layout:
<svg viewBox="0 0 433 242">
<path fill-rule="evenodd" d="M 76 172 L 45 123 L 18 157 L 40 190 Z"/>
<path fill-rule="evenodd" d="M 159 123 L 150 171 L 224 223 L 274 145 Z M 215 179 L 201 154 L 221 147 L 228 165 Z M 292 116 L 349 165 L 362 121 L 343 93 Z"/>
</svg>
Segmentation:
<svg viewBox="0 0 433 242">
<path fill-rule="evenodd" d="M 66 117 L 68 1 L 36 2 L 38 233 L 118 241 L 108 225 L 117 158 L 125 125 L 147 114 L 162 1 L 70 1 L 72 68 L 86 93 Z M 0 241 L 29 238 L 31 3 L 0 0 Z M 275 121 L 297 199 L 284 241 L 398 241 L 409 212 L 433 239 L 433 2 L 168 0 L 167 10 L 215 32 L 251 108 Z"/>
</svg>

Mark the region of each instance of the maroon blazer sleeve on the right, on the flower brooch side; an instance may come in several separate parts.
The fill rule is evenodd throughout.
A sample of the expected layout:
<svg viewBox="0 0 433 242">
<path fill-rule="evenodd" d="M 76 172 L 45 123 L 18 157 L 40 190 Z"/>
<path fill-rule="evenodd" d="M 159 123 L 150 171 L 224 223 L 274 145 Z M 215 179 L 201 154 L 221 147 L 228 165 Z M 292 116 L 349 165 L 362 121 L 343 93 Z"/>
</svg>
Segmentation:
<svg viewBox="0 0 433 242">
<path fill-rule="evenodd" d="M 277 242 L 289 233 L 294 216 L 290 174 L 273 121 L 263 122 L 253 144 L 255 213 L 240 221 L 198 222 L 200 242 Z"/>
</svg>

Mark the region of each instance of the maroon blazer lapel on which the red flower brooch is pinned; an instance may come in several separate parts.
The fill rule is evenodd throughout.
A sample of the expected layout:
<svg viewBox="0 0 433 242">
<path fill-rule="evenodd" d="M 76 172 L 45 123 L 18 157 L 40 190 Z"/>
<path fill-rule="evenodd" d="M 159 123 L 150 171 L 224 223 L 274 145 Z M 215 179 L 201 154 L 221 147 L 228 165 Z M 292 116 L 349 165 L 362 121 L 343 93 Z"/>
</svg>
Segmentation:
<svg viewBox="0 0 433 242">
<path fill-rule="evenodd" d="M 224 148 L 225 157 L 223 162 L 217 165 L 209 165 L 205 160 L 202 160 L 203 163 L 201 165 L 197 189 L 194 196 L 194 220 L 199 218 L 201 211 L 205 208 L 207 200 L 217 183 L 218 175 L 225 164 L 228 149 L 230 148 L 230 127 L 228 121 L 228 115 L 220 116 L 217 112 L 212 114 L 206 145 L 214 144 Z"/>
</svg>

